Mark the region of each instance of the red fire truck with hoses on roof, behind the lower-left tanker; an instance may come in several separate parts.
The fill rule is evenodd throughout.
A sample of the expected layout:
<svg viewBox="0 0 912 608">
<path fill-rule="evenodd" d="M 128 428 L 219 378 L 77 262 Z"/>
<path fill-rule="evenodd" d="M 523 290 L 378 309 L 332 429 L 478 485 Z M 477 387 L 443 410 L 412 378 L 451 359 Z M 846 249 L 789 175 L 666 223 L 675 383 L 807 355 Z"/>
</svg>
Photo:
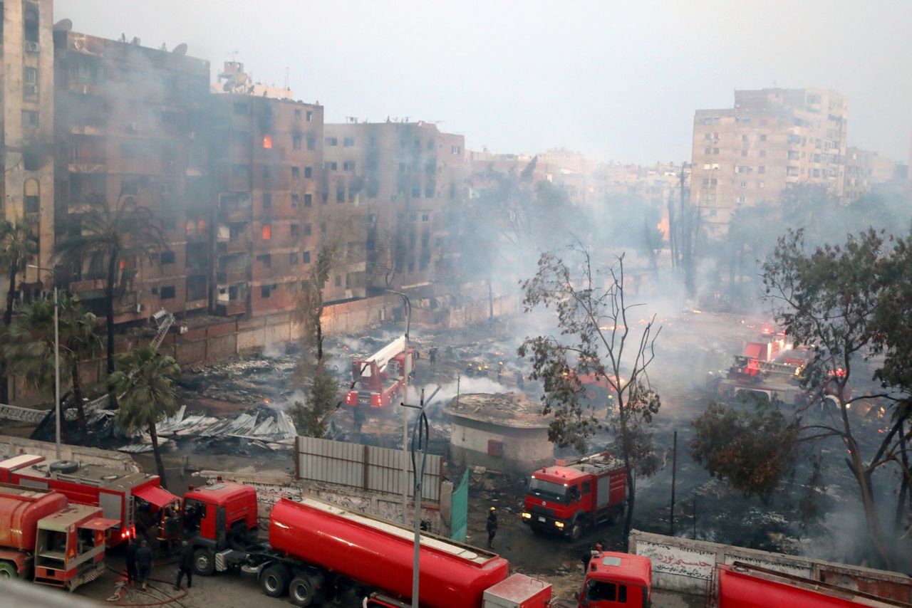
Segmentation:
<svg viewBox="0 0 912 608">
<path fill-rule="evenodd" d="M 66 460 L 55 462 L 31 454 L 0 461 L 0 482 L 53 489 L 72 503 L 100 507 L 106 518 L 118 521 L 108 532 L 109 546 L 136 537 L 140 511 L 148 514 L 149 525 L 157 525 L 160 510 L 181 500 L 161 488 L 158 475 Z"/>
</svg>

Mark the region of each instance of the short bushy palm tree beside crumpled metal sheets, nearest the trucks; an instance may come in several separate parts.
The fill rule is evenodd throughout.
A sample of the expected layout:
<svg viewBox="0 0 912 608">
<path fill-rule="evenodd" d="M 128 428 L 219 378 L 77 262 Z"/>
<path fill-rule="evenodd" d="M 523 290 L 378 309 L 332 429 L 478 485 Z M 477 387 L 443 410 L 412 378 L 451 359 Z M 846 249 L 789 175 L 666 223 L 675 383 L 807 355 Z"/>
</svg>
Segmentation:
<svg viewBox="0 0 912 608">
<path fill-rule="evenodd" d="M 165 467 L 155 425 L 177 411 L 174 381 L 181 375 L 181 366 L 151 345 L 118 356 L 118 366 L 109 383 L 118 395 L 120 424 L 129 431 L 149 430 L 155 466 L 159 469 L 161 485 L 165 486 Z"/>
</svg>

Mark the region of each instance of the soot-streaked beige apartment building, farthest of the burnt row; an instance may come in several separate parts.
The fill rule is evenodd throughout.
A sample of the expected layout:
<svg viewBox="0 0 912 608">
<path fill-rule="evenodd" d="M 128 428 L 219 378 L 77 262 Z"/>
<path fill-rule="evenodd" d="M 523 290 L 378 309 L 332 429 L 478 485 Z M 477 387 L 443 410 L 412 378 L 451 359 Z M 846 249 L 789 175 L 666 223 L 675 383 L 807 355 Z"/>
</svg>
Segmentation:
<svg viewBox="0 0 912 608">
<path fill-rule="evenodd" d="M 357 202 L 367 219 L 370 293 L 451 280 L 454 213 L 465 200 L 464 138 L 427 122 L 326 125 L 326 204 Z"/>
</svg>

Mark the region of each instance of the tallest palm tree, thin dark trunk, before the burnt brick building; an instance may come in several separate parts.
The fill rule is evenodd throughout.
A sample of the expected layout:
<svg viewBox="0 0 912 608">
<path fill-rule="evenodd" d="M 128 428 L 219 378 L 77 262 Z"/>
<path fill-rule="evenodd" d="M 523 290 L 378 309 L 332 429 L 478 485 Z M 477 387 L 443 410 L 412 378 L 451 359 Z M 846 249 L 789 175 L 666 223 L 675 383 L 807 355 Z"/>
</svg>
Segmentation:
<svg viewBox="0 0 912 608">
<path fill-rule="evenodd" d="M 88 196 L 88 210 L 73 213 L 68 221 L 74 224 L 67 237 L 57 243 L 57 258 L 67 263 L 82 263 L 88 258 L 90 267 L 105 265 L 105 315 L 107 327 L 108 373 L 114 372 L 114 294 L 123 283 L 118 275 L 121 260 L 149 256 L 164 249 L 161 224 L 148 207 L 136 202 L 136 197 L 121 195 L 119 204 L 112 207 L 102 196 Z"/>
</svg>

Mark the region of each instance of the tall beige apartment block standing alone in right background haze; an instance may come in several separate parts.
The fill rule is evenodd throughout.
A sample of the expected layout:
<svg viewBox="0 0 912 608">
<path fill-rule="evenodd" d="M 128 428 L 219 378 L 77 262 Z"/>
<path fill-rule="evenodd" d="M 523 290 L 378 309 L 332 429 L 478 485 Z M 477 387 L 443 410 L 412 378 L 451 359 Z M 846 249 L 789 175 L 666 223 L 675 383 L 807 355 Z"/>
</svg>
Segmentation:
<svg viewBox="0 0 912 608">
<path fill-rule="evenodd" d="M 735 91 L 734 108 L 697 110 L 690 197 L 710 232 L 793 184 L 842 197 L 847 119 L 845 98 L 819 88 Z"/>
</svg>

